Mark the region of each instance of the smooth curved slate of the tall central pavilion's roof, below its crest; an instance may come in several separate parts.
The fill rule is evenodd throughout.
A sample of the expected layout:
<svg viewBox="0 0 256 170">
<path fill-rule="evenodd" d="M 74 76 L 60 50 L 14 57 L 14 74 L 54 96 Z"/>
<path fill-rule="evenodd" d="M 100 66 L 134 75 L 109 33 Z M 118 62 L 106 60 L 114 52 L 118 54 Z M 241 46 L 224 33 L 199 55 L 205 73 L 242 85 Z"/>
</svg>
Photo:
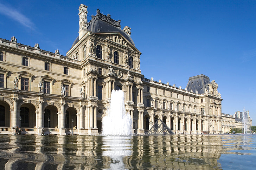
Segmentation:
<svg viewBox="0 0 256 170">
<path fill-rule="evenodd" d="M 122 34 L 124 36 L 124 38 L 126 38 L 130 43 L 132 43 L 132 45 L 134 45 L 132 38 L 126 32 L 124 32 L 122 29 L 115 27 L 114 25 L 112 25 L 108 22 L 105 22 L 101 19 L 95 19 L 93 21 L 90 21 L 89 24 L 90 25 L 88 27 L 88 30 L 93 33 L 119 32 L 120 34 Z"/>
</svg>

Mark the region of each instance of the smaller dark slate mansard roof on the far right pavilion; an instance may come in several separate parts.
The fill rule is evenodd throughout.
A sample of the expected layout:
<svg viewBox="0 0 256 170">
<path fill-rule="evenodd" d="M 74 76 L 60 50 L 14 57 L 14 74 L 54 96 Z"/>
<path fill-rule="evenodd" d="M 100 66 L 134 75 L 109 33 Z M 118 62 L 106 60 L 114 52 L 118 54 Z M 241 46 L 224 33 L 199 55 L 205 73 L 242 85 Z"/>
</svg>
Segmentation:
<svg viewBox="0 0 256 170">
<path fill-rule="evenodd" d="M 193 90 L 193 93 L 198 92 L 198 94 L 204 94 L 205 88 L 209 90 L 208 84 L 210 83 L 210 78 L 200 74 L 197 76 L 189 77 L 188 83 L 187 83 L 187 91 Z"/>
</svg>

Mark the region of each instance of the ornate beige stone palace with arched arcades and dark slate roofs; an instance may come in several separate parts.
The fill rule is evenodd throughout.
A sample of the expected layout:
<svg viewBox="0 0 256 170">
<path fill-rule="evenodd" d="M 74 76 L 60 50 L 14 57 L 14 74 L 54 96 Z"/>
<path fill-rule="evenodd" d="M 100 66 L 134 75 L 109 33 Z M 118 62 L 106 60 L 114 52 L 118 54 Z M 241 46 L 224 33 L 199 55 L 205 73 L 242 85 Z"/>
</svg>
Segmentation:
<svg viewBox="0 0 256 170">
<path fill-rule="evenodd" d="M 79 36 L 66 55 L 0 39 L 0 132 L 100 134 L 111 91 L 123 90 L 134 134 L 145 134 L 160 118 L 176 134 L 222 133 L 218 84 L 205 75 L 175 87 L 141 74 L 141 52 L 131 28 L 110 14 L 87 21 L 79 7 Z"/>
</svg>

